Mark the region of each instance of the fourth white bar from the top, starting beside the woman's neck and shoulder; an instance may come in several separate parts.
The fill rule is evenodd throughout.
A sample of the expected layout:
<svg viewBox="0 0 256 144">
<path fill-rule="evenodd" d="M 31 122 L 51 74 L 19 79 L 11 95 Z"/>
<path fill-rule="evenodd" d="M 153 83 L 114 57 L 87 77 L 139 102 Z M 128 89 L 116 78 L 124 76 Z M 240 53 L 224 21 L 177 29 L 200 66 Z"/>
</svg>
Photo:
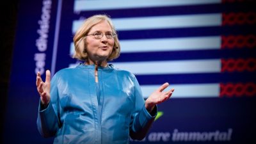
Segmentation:
<svg viewBox="0 0 256 144">
<path fill-rule="evenodd" d="M 132 59 L 132 58 L 131 58 Z M 220 72 L 220 59 L 214 60 L 177 60 L 177 61 L 143 61 L 113 63 L 115 68 L 128 70 L 133 74 L 195 74 Z"/>
</svg>

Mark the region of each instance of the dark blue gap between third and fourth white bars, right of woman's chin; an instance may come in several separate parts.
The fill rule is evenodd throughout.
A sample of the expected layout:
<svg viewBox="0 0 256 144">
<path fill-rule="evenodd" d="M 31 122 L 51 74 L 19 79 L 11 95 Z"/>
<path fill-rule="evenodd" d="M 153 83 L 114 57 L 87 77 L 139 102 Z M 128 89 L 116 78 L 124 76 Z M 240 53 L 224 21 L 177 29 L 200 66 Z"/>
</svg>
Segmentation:
<svg viewBox="0 0 256 144">
<path fill-rule="evenodd" d="M 120 57 L 114 60 L 114 62 L 207 60 L 207 59 L 219 59 L 219 58 L 254 58 L 255 53 L 256 53 L 256 49 L 212 49 L 212 50 L 200 50 L 200 51 L 164 51 L 164 52 L 132 52 L 132 53 L 121 52 Z"/>
</svg>

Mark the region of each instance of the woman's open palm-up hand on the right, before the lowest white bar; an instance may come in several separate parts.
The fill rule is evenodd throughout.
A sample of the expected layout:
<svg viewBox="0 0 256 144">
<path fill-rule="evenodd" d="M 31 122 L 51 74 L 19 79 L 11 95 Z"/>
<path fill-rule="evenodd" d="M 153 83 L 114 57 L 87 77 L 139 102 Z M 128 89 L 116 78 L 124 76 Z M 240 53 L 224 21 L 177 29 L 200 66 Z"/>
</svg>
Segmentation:
<svg viewBox="0 0 256 144">
<path fill-rule="evenodd" d="M 164 83 L 158 90 L 151 93 L 151 95 L 148 97 L 148 99 L 145 101 L 145 107 L 148 112 L 151 112 L 156 104 L 160 104 L 164 102 L 165 100 L 168 100 L 174 91 L 174 88 L 171 90 L 168 90 L 168 92 L 163 92 L 165 88 L 169 86 L 169 83 Z"/>
</svg>

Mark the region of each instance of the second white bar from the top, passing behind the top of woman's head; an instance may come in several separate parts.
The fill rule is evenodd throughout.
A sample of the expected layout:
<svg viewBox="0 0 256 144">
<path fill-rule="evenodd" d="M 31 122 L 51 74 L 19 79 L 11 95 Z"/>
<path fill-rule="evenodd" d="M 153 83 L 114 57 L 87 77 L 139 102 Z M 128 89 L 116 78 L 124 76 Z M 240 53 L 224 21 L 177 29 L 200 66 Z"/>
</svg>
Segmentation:
<svg viewBox="0 0 256 144">
<path fill-rule="evenodd" d="M 73 33 L 75 33 L 79 26 L 83 24 L 83 21 L 84 20 L 73 21 Z M 120 18 L 112 19 L 112 21 L 117 31 L 164 28 L 194 28 L 202 26 L 221 26 L 221 13 Z"/>
</svg>

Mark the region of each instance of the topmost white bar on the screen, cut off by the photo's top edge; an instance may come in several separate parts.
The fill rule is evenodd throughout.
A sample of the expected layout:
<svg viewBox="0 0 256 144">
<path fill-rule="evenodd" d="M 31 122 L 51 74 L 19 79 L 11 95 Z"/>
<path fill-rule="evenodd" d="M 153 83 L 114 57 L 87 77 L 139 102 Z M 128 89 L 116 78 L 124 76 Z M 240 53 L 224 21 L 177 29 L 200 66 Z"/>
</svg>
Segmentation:
<svg viewBox="0 0 256 144">
<path fill-rule="evenodd" d="M 90 11 L 90 10 L 115 10 L 124 8 L 152 8 L 159 6 L 184 6 L 192 4 L 214 4 L 221 3 L 221 0 L 129 0 L 129 1 L 116 1 L 116 0 L 94 0 L 75 1 L 74 11 Z"/>
</svg>

